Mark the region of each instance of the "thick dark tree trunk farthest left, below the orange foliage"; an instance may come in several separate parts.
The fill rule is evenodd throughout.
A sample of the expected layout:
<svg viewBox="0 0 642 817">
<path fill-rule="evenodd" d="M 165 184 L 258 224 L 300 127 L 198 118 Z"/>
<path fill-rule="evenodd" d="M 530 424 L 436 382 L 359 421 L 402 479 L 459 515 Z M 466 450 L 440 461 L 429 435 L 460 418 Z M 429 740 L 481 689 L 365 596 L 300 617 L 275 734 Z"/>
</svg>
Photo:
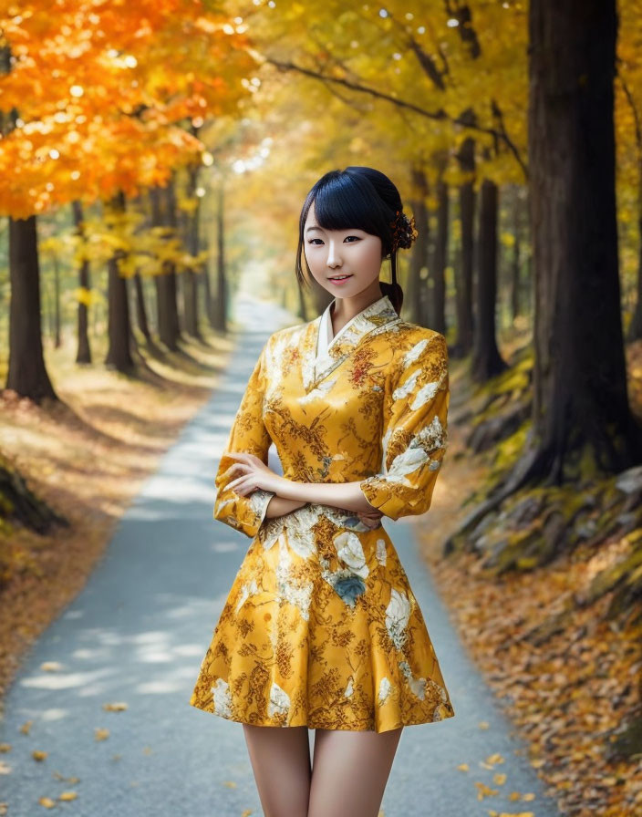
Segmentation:
<svg viewBox="0 0 642 817">
<path fill-rule="evenodd" d="M 57 400 L 42 347 L 40 322 L 40 266 L 36 216 L 9 217 L 9 370 L 6 388 L 39 403 Z"/>
</svg>

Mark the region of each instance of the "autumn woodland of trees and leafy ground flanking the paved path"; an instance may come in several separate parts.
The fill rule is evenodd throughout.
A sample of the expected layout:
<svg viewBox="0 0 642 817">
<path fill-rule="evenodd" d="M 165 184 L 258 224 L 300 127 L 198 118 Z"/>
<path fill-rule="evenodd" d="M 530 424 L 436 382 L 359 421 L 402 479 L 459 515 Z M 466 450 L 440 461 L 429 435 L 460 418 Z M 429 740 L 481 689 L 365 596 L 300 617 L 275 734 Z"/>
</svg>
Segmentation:
<svg viewBox="0 0 642 817">
<path fill-rule="evenodd" d="M 426 558 L 563 813 L 642 813 L 642 3 L 1 9 L 2 688 L 368 165 L 449 341 Z"/>
</svg>

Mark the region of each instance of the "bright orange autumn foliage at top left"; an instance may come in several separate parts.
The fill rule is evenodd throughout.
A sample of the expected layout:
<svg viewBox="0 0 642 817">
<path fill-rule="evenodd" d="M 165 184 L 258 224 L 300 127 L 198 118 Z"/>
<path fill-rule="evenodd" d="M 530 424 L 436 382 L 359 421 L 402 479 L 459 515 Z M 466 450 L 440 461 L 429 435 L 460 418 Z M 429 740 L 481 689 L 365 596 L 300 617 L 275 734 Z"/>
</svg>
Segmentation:
<svg viewBox="0 0 642 817">
<path fill-rule="evenodd" d="M 0 106 L 0 212 L 25 218 L 78 199 L 163 184 L 200 161 L 185 126 L 236 109 L 254 68 L 243 26 L 201 0 L 0 3 L 10 49 Z"/>
</svg>

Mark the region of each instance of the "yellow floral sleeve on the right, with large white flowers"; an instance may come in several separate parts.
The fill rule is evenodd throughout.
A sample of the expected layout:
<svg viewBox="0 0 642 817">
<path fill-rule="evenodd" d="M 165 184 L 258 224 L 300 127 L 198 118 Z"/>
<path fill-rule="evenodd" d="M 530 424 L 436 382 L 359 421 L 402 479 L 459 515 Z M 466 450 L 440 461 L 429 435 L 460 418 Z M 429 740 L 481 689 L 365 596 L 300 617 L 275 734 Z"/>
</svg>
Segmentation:
<svg viewBox="0 0 642 817">
<path fill-rule="evenodd" d="M 361 481 L 390 519 L 430 508 L 447 446 L 448 346 L 439 332 L 401 353 L 384 408 L 381 472 Z"/>
</svg>

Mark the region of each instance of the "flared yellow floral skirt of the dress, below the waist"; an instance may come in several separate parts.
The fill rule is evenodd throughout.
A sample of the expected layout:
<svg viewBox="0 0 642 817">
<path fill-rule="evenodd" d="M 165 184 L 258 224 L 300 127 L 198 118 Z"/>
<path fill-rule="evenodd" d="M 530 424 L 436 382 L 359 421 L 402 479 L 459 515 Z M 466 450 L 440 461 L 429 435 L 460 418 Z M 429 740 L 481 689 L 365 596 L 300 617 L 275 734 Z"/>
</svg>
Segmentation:
<svg viewBox="0 0 642 817">
<path fill-rule="evenodd" d="M 455 714 L 388 533 L 315 504 L 254 537 L 190 703 L 257 726 L 377 732 Z"/>
</svg>

